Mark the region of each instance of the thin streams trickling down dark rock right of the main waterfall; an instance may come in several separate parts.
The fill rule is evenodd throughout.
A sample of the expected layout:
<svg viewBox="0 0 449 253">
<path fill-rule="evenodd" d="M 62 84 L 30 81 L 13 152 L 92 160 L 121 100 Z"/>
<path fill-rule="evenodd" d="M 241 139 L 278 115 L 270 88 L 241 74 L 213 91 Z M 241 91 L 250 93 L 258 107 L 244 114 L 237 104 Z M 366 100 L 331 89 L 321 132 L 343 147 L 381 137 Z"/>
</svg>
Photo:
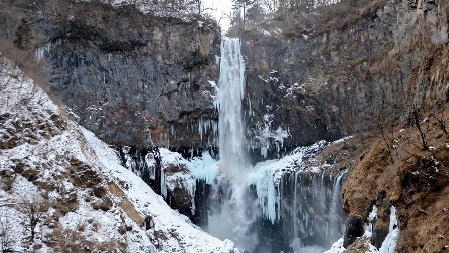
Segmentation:
<svg viewBox="0 0 449 253">
<path fill-rule="evenodd" d="M 279 191 L 284 245 L 292 251 L 319 252 L 329 249 L 344 233 L 345 215 L 341 208 L 342 180 L 327 173 L 284 173 Z M 314 251 L 315 249 L 317 251 Z M 300 251 L 301 250 L 301 251 Z M 295 251 L 296 252 L 296 251 Z"/>
</svg>

